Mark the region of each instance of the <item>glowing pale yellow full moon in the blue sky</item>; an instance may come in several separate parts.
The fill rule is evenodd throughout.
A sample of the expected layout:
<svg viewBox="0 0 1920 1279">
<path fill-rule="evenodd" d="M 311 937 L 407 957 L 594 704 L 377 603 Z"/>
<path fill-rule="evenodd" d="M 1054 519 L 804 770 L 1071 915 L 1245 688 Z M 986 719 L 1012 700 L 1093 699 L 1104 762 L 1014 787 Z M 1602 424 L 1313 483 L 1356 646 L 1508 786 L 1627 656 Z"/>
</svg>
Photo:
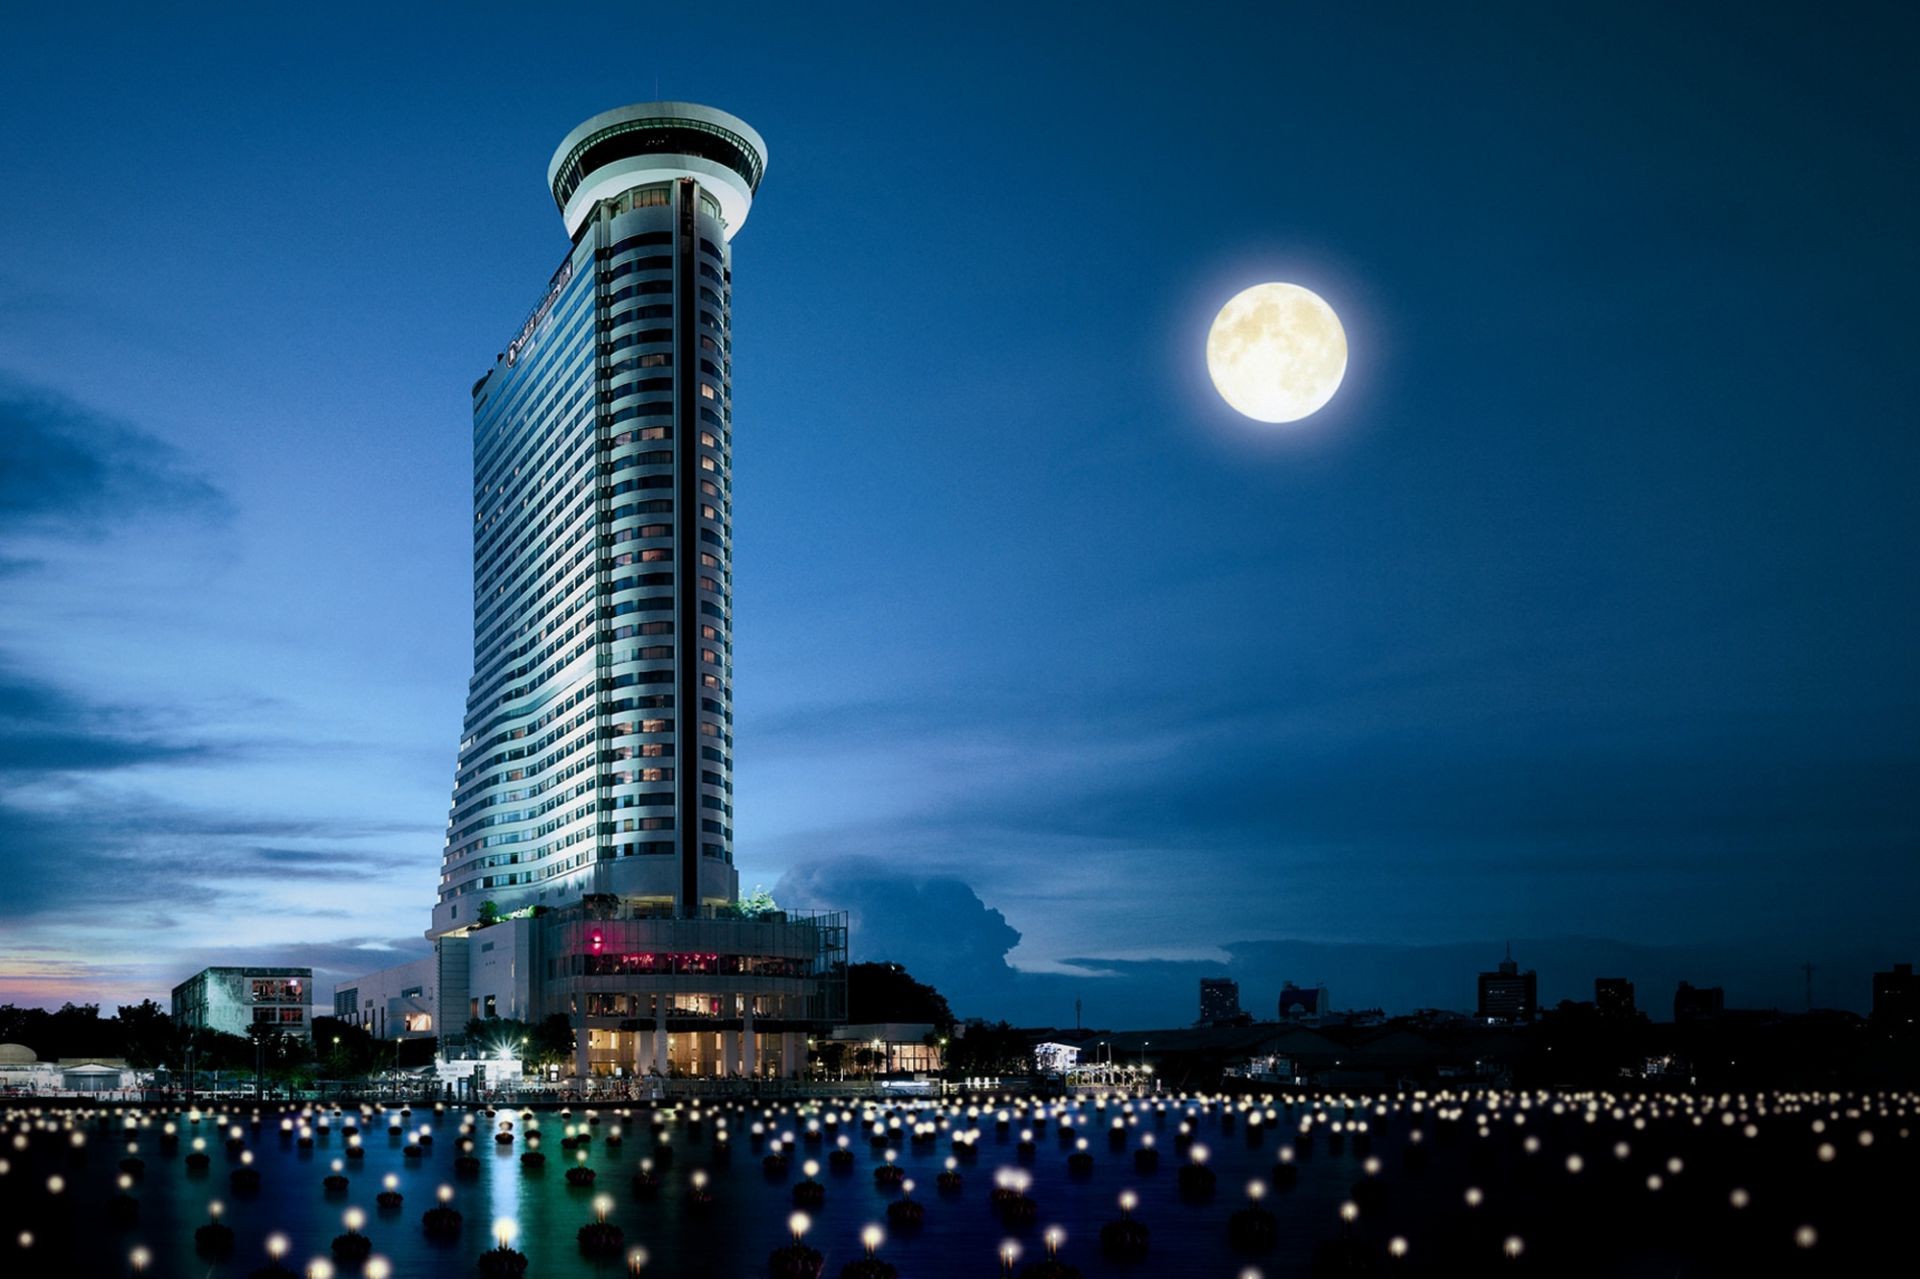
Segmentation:
<svg viewBox="0 0 1920 1279">
<path fill-rule="evenodd" d="M 1213 317 L 1206 371 L 1221 399 L 1256 422 L 1298 422 L 1340 390 L 1346 330 L 1311 288 L 1254 284 Z"/>
</svg>

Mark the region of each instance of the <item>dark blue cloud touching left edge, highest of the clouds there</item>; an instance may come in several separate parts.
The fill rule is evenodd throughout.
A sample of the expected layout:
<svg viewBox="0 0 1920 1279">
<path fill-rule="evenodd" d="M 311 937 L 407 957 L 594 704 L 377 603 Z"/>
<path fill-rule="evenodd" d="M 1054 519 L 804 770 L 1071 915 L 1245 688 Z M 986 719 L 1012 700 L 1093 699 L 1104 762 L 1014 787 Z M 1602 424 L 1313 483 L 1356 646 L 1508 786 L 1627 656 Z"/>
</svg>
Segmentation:
<svg viewBox="0 0 1920 1279">
<path fill-rule="evenodd" d="M 86 538 L 148 513 L 225 511 L 225 494 L 171 446 L 56 396 L 0 386 L 0 534 Z"/>
</svg>

